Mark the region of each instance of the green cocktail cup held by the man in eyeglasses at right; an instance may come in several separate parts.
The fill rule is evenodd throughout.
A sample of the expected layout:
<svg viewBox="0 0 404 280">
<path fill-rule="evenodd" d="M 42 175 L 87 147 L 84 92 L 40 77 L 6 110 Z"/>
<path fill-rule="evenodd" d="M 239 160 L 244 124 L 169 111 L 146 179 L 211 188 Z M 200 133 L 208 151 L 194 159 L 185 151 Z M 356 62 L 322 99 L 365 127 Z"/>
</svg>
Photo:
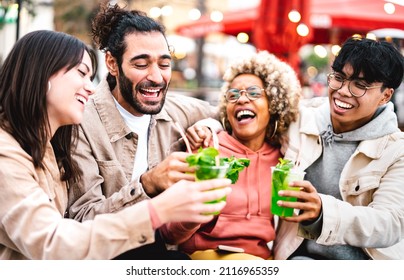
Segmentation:
<svg viewBox="0 0 404 280">
<path fill-rule="evenodd" d="M 278 206 L 278 200 L 283 201 L 297 201 L 296 197 L 279 196 L 280 190 L 294 190 L 299 191 L 299 187 L 289 186 L 290 182 L 303 180 L 305 172 L 296 169 L 282 169 L 271 167 L 272 169 L 272 203 L 271 212 L 274 215 L 282 217 L 293 216 L 293 208 Z"/>
</svg>

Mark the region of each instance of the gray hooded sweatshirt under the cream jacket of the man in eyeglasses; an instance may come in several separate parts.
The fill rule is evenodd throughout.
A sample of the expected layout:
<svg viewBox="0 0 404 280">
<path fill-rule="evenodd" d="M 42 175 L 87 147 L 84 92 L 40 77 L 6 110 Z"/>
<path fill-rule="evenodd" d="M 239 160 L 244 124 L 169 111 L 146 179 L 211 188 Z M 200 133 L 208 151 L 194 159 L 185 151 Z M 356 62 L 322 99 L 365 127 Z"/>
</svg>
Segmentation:
<svg viewBox="0 0 404 280">
<path fill-rule="evenodd" d="M 394 113 L 394 105 L 388 103 L 377 109 L 372 120 L 364 126 L 341 134 L 333 132 L 330 119 L 329 106 L 319 108 L 317 126 L 323 141 L 323 153 L 310 167 L 306 169 L 305 180 L 310 181 L 317 192 L 332 195 L 341 199 L 339 191 L 339 179 L 346 162 L 355 152 L 362 140 L 370 140 L 397 132 L 397 116 Z M 322 227 L 322 216 L 314 223 L 304 224 L 315 236 L 318 236 Z M 324 246 L 314 240 L 305 239 L 291 259 L 369 259 L 369 257 L 357 247 L 349 245 Z"/>
</svg>

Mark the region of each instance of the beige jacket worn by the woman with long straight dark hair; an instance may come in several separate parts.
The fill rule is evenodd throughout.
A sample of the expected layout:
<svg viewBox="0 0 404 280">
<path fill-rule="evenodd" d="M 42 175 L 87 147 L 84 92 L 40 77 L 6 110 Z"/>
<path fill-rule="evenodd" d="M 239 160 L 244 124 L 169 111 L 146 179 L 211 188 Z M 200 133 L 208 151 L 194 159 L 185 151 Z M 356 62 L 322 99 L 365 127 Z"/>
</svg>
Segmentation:
<svg viewBox="0 0 404 280">
<path fill-rule="evenodd" d="M 34 168 L 0 129 L 0 259 L 111 259 L 154 242 L 146 202 L 94 221 L 64 219 L 67 190 L 50 144 L 44 165 Z"/>
</svg>

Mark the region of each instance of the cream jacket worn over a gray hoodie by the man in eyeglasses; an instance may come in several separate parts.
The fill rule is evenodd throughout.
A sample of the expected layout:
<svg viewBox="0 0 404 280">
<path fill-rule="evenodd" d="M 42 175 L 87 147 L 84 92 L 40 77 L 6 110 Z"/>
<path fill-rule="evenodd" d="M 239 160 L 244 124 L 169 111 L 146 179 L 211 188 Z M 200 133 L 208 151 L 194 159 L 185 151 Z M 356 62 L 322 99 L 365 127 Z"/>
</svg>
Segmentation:
<svg viewBox="0 0 404 280">
<path fill-rule="evenodd" d="M 300 152 L 303 169 L 322 153 L 317 110 L 303 107 L 289 129 L 285 157 L 296 160 Z M 343 201 L 320 194 L 323 228 L 316 242 L 364 247 L 372 259 L 404 259 L 404 133 L 362 141 L 343 168 L 339 186 Z M 313 239 L 298 224 L 281 221 L 275 259 L 288 258 L 302 237 Z"/>
</svg>

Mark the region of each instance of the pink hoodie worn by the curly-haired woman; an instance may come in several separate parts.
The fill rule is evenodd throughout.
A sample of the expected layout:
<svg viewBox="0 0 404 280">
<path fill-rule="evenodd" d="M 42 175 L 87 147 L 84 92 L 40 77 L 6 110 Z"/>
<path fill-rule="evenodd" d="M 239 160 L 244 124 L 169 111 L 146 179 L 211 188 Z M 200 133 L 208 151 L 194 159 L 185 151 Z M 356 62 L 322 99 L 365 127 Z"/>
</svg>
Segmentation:
<svg viewBox="0 0 404 280">
<path fill-rule="evenodd" d="M 267 259 L 267 243 L 275 239 L 271 204 L 271 166 L 280 151 L 268 143 L 254 152 L 231 137 L 219 133 L 220 154 L 224 157 L 250 159 L 250 166 L 240 172 L 227 205 L 207 224 L 171 223 L 161 228 L 166 242 L 192 254 L 197 250 L 215 249 L 218 245 L 243 248 L 248 254 Z"/>
</svg>

